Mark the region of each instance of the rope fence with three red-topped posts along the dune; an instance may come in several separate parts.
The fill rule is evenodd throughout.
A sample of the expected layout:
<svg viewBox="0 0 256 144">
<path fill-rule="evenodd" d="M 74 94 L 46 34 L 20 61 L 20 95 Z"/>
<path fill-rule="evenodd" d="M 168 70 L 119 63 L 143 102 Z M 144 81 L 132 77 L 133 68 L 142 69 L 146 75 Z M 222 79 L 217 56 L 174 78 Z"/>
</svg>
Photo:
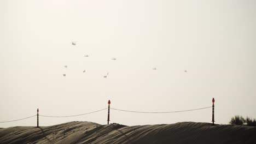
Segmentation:
<svg viewBox="0 0 256 144">
<path fill-rule="evenodd" d="M 190 109 L 190 110 L 182 110 L 182 111 L 149 112 L 149 111 L 130 111 L 130 110 L 121 110 L 121 109 L 110 108 L 110 100 L 108 100 L 108 108 L 97 110 L 97 111 L 92 111 L 92 112 L 88 112 L 88 113 L 83 113 L 83 114 L 79 114 L 79 115 L 71 115 L 71 116 L 46 116 L 46 115 L 39 115 L 39 113 L 38 113 L 39 110 L 37 109 L 37 115 L 33 115 L 33 116 L 30 116 L 30 117 L 21 118 L 21 119 L 15 119 L 13 121 L 3 121 L 3 122 L 0 122 L 0 123 L 8 123 L 8 122 L 21 121 L 21 120 L 24 120 L 24 119 L 28 119 L 28 118 L 37 116 L 37 127 L 39 127 L 39 116 L 40 117 L 51 117 L 51 118 L 77 117 L 77 116 L 88 115 L 88 114 L 91 114 L 91 113 L 96 113 L 96 112 L 100 112 L 100 111 L 108 109 L 108 120 L 107 121 L 108 121 L 108 124 L 109 124 L 109 111 L 110 111 L 110 109 L 111 110 L 116 110 L 116 111 L 133 112 L 133 113 L 177 113 L 177 112 L 187 112 L 187 111 L 196 111 L 196 110 L 208 109 L 208 108 L 212 107 L 212 109 L 213 109 L 213 111 L 212 111 L 212 123 L 214 125 L 214 98 L 212 99 L 212 104 L 213 104 L 212 106 L 201 107 L 201 108 L 198 108 L 198 109 Z"/>
</svg>

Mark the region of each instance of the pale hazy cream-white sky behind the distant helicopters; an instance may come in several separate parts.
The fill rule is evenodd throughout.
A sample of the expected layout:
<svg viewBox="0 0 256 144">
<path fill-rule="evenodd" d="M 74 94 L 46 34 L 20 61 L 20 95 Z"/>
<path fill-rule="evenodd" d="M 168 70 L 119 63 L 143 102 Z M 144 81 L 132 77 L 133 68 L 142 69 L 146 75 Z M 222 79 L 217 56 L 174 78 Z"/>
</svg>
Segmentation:
<svg viewBox="0 0 256 144">
<path fill-rule="evenodd" d="M 36 115 L 37 108 L 40 115 L 77 115 L 104 109 L 109 99 L 124 110 L 188 110 L 211 106 L 213 97 L 216 123 L 234 115 L 256 118 L 255 6 L 242 0 L 2 0 L 0 121 Z M 211 123 L 211 116 L 211 109 L 111 110 L 110 123 Z M 69 121 L 106 124 L 107 110 L 39 119 L 40 125 Z M 36 125 L 36 117 L 0 123 L 16 125 Z"/>
</svg>

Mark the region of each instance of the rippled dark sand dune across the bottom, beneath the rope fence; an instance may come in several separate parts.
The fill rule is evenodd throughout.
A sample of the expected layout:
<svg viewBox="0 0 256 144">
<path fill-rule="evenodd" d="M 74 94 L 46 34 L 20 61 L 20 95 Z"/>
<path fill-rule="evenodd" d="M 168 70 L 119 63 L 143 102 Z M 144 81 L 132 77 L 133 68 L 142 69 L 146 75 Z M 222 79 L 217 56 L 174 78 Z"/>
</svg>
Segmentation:
<svg viewBox="0 0 256 144">
<path fill-rule="evenodd" d="M 195 122 L 132 127 L 68 122 L 0 129 L 0 143 L 256 143 L 255 136 L 256 127 Z"/>
</svg>

